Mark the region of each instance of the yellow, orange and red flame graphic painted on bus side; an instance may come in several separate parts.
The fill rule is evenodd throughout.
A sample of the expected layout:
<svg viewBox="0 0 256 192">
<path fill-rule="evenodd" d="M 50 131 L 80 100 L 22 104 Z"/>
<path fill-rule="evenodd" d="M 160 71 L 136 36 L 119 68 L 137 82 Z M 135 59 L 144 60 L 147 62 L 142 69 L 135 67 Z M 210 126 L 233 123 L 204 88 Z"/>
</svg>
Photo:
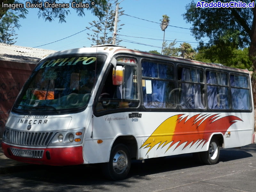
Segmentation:
<svg viewBox="0 0 256 192">
<path fill-rule="evenodd" d="M 203 147 L 210 139 L 213 132 L 221 132 L 224 135 L 228 128 L 232 124 L 236 123 L 237 120 L 242 121 L 242 119 L 236 116 L 225 116 L 219 118 L 219 114 L 197 114 L 189 119 L 187 119 L 188 116 L 182 118 L 184 115 L 185 114 L 179 114 L 166 119 L 156 128 L 140 148 L 149 148 L 149 152 L 157 144 L 158 149 L 160 146 L 163 148 L 167 144 L 171 143 L 166 150 L 168 151 L 168 149 L 177 142 L 178 145 L 175 149 L 183 143 L 186 143 L 183 149 L 189 144 L 192 146 L 197 142 L 200 142 L 198 146 L 203 143 Z"/>
</svg>

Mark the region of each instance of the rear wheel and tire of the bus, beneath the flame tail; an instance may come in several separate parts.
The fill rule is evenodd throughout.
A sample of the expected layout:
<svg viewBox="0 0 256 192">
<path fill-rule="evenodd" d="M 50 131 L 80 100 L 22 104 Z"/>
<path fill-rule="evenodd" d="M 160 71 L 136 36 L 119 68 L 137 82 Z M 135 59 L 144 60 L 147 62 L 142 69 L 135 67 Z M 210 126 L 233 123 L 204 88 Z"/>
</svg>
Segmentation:
<svg viewBox="0 0 256 192">
<path fill-rule="evenodd" d="M 220 156 L 220 146 L 216 139 L 210 141 L 208 151 L 201 152 L 201 159 L 205 164 L 216 164 Z"/>
</svg>

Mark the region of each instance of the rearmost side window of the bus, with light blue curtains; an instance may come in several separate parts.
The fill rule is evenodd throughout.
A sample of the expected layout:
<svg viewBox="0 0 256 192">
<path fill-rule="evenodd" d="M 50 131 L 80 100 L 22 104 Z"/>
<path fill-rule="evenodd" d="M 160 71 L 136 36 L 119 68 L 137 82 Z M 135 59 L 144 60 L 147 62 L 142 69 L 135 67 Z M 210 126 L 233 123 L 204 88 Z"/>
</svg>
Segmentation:
<svg viewBox="0 0 256 192">
<path fill-rule="evenodd" d="M 251 109 L 248 77 L 230 75 L 230 84 L 233 109 Z"/>
</svg>

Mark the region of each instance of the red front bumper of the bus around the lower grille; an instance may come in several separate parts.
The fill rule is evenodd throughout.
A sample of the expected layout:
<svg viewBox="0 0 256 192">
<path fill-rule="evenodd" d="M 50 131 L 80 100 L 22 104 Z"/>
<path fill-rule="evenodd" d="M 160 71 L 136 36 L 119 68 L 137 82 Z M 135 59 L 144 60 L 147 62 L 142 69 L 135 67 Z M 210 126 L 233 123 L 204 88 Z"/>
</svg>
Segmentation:
<svg viewBox="0 0 256 192">
<path fill-rule="evenodd" d="M 21 150 L 44 150 L 42 158 L 20 157 L 12 153 L 13 149 Z M 10 159 L 30 163 L 30 164 L 45 164 L 45 165 L 78 165 L 83 164 L 83 147 L 69 148 L 20 148 L 7 145 L 2 142 L 4 155 Z"/>
</svg>

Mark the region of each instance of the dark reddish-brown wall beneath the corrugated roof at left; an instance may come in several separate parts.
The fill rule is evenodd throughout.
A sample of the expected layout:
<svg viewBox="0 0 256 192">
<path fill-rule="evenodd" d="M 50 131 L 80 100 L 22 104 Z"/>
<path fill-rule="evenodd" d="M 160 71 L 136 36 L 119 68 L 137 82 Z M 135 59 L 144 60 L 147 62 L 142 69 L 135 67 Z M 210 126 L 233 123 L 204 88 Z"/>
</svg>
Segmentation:
<svg viewBox="0 0 256 192">
<path fill-rule="evenodd" d="M 35 67 L 35 64 L 0 60 L 0 138 L 12 105 Z"/>
</svg>

